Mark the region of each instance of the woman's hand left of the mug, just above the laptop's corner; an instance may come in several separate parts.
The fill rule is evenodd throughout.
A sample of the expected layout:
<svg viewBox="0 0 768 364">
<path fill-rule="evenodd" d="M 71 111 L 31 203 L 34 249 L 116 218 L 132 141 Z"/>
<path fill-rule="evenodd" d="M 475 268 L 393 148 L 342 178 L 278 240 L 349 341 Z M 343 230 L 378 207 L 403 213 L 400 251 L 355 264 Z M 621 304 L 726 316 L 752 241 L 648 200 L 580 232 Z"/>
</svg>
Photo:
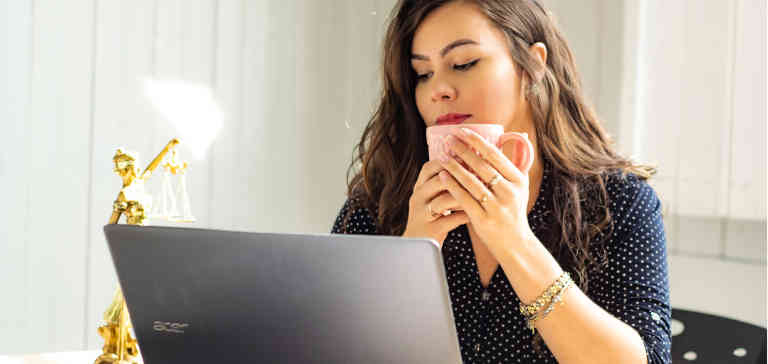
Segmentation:
<svg viewBox="0 0 768 364">
<path fill-rule="evenodd" d="M 440 180 L 438 174 L 442 170 L 439 161 L 429 161 L 421 167 L 408 202 L 408 222 L 403 237 L 434 239 L 442 247 L 451 230 L 469 221 L 464 211 L 455 211 L 460 205 Z"/>
</svg>

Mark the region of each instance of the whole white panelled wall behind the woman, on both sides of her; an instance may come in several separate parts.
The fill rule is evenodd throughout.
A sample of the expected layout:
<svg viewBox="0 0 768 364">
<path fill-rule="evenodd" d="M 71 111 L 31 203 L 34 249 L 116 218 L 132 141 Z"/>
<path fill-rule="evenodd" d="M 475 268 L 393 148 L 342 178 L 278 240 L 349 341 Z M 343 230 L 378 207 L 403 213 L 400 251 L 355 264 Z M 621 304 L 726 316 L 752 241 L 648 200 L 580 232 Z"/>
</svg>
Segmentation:
<svg viewBox="0 0 768 364">
<path fill-rule="evenodd" d="M 100 346 L 111 158 L 146 165 L 179 134 L 146 77 L 209 87 L 225 113 L 204 158 L 181 148 L 188 226 L 327 232 L 393 3 L 0 0 L 0 352 Z M 548 3 L 620 148 L 659 164 L 673 306 L 765 325 L 765 3 Z M 731 299 L 705 299 L 703 270 Z"/>
</svg>

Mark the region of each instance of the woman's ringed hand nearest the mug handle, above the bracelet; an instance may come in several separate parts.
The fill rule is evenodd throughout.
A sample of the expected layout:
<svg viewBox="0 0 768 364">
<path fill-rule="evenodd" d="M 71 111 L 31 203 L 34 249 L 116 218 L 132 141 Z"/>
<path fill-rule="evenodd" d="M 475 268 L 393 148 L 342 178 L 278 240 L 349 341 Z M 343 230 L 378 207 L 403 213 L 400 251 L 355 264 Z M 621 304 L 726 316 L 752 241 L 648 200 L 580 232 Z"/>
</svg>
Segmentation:
<svg viewBox="0 0 768 364">
<path fill-rule="evenodd" d="M 456 156 L 441 161 L 445 171 L 439 172 L 448 192 L 494 255 L 501 247 L 533 236 L 527 216 L 533 146 L 525 134 L 517 134 L 510 141 L 515 143 L 514 162 L 474 131 L 458 129 L 448 139 Z"/>
</svg>

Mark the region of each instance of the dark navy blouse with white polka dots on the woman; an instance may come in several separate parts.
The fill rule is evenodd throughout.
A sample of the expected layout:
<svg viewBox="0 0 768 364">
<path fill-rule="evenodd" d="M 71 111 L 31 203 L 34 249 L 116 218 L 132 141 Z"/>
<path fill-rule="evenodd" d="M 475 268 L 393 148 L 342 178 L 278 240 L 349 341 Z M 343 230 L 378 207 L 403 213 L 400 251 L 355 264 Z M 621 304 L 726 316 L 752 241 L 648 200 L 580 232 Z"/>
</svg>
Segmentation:
<svg viewBox="0 0 768 364">
<path fill-rule="evenodd" d="M 547 228 L 552 209 L 550 166 L 545 163 L 541 191 L 528 215 L 537 236 Z M 606 181 L 614 233 L 606 245 L 608 264 L 590 275 L 588 296 L 640 333 L 649 364 L 671 363 L 669 280 L 661 204 L 653 189 L 635 175 Z M 377 234 L 375 213 L 354 211 L 345 226 L 347 200 L 332 233 Z M 550 215 L 551 216 L 551 215 Z M 543 346 L 537 354 L 519 311 L 520 300 L 499 267 L 483 288 L 466 225 L 443 244 L 451 304 L 465 363 L 556 363 Z M 567 304 L 567 302 L 566 302 Z"/>
</svg>

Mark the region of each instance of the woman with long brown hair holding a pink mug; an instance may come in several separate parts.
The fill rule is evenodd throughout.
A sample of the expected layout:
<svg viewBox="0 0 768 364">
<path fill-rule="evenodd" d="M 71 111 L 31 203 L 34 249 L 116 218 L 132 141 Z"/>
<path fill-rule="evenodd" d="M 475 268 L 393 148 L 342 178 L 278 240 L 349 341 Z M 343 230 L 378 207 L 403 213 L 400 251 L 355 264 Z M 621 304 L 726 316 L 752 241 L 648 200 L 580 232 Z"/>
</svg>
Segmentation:
<svg viewBox="0 0 768 364">
<path fill-rule="evenodd" d="M 332 232 L 440 243 L 465 362 L 670 363 L 654 171 L 613 149 L 551 15 L 534 0 L 401 0 L 383 54 Z M 438 121 L 527 133 L 533 163 L 458 132 L 456 157 L 428 161 Z"/>
</svg>

